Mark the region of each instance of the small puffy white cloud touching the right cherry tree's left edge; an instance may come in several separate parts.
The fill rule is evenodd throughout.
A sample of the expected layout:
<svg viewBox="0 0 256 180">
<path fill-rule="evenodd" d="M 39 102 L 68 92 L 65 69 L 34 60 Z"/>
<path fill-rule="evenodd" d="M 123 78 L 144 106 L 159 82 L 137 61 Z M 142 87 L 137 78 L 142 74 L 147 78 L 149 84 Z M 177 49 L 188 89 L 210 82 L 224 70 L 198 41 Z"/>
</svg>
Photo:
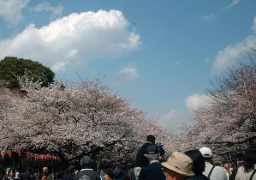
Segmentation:
<svg viewBox="0 0 256 180">
<path fill-rule="evenodd" d="M 209 97 L 207 95 L 194 94 L 187 97 L 184 103 L 189 110 L 195 110 L 203 106 L 207 106 Z"/>
</svg>

